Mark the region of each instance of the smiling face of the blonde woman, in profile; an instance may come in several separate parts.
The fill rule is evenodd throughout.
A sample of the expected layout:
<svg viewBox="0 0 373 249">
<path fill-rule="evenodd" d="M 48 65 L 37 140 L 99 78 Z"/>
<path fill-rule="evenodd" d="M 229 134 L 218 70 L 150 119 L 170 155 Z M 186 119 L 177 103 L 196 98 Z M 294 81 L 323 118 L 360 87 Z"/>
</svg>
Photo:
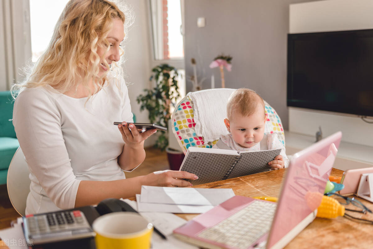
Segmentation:
<svg viewBox="0 0 373 249">
<path fill-rule="evenodd" d="M 123 29 L 123 22 L 119 18 L 114 19 L 113 21 L 113 28 L 110 30 L 109 34 L 106 37 L 107 41 L 109 41 L 109 52 L 106 53 L 105 58 L 100 61 L 100 70 L 98 75 L 101 76 L 108 70 L 105 66 L 105 61 L 107 64 L 111 65 L 113 61 L 119 61 L 119 47 L 120 43 L 124 39 L 124 29 Z M 101 57 L 104 54 L 104 50 L 98 47 L 97 54 Z"/>
</svg>

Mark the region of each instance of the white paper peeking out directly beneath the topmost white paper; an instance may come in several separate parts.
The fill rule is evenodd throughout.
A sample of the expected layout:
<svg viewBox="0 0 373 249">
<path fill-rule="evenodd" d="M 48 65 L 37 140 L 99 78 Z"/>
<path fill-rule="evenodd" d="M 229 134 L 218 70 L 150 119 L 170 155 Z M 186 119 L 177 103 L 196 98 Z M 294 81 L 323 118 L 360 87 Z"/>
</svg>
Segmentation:
<svg viewBox="0 0 373 249">
<path fill-rule="evenodd" d="M 213 205 L 175 205 L 163 203 L 141 202 L 140 194 L 136 194 L 139 212 L 166 212 L 176 214 L 202 214 L 214 208 Z"/>
</svg>

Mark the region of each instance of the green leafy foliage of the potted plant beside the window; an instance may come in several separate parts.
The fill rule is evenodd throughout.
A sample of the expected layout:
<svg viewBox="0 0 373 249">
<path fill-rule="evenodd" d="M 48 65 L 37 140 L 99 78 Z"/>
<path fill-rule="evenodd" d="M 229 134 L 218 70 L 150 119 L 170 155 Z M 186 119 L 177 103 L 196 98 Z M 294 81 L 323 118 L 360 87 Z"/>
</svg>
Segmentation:
<svg viewBox="0 0 373 249">
<path fill-rule="evenodd" d="M 148 110 L 148 118 L 151 123 L 167 127 L 171 118 L 171 106 L 175 106 L 177 98 L 180 97 L 178 72 L 176 68 L 168 64 L 158 65 L 151 71 L 150 81 L 154 79 L 156 86 L 153 89 L 145 89 L 145 93 L 140 94 L 136 100 L 140 104 L 141 111 Z M 158 131 L 157 133 L 160 135 L 154 146 L 163 151 L 168 146 L 169 131 Z"/>
</svg>

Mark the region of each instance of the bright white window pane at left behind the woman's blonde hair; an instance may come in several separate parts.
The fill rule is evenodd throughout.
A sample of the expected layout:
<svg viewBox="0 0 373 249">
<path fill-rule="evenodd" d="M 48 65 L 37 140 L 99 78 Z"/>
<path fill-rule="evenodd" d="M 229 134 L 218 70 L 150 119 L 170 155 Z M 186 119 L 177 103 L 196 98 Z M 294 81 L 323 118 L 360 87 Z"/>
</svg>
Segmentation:
<svg viewBox="0 0 373 249">
<path fill-rule="evenodd" d="M 47 49 L 54 26 L 69 0 L 29 0 L 32 62 Z"/>
</svg>

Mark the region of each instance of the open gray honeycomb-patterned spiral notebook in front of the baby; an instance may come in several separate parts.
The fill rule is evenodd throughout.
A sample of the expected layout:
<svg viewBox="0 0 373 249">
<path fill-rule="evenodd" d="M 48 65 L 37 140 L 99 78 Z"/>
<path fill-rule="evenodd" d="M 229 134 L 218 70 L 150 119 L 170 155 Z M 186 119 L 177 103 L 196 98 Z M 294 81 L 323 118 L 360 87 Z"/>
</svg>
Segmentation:
<svg viewBox="0 0 373 249">
<path fill-rule="evenodd" d="M 193 185 L 269 171 L 268 165 L 281 149 L 239 153 L 236 150 L 189 147 L 181 171 L 198 175 Z"/>
</svg>

